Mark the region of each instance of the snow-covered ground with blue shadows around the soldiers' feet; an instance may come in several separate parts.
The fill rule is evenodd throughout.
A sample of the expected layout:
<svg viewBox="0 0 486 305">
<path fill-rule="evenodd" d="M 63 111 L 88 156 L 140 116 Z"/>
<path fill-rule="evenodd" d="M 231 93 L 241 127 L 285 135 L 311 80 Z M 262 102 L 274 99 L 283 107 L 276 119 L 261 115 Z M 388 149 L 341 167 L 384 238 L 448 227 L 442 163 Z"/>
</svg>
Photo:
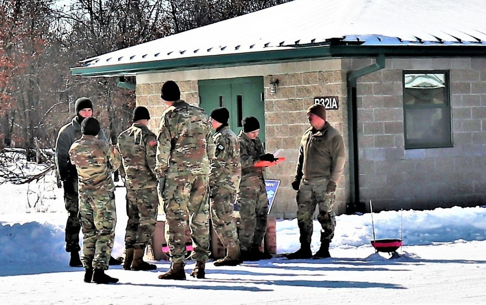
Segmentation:
<svg viewBox="0 0 486 305">
<path fill-rule="evenodd" d="M 484 304 L 486 209 L 388 211 L 373 216 L 376 239 L 402 238 L 403 256 L 375 254 L 370 214 L 337 217 L 332 258 L 273 258 L 237 267 L 207 264 L 207 278 L 159 280 L 169 269 L 111 266 L 114 285 L 83 282 L 68 266 L 66 212 L 52 176 L 30 185 L 0 185 L 1 304 Z M 27 194 L 27 189 L 30 192 Z M 117 188 L 114 256 L 123 252 L 123 188 Z M 278 204 L 276 202 L 275 204 Z M 30 207 L 29 207 L 30 205 Z M 34 207 L 35 206 L 35 207 Z M 314 224 L 312 249 L 319 247 Z M 277 222 L 277 250 L 297 250 L 296 220 Z M 194 266 L 188 261 L 186 271 Z"/>
</svg>

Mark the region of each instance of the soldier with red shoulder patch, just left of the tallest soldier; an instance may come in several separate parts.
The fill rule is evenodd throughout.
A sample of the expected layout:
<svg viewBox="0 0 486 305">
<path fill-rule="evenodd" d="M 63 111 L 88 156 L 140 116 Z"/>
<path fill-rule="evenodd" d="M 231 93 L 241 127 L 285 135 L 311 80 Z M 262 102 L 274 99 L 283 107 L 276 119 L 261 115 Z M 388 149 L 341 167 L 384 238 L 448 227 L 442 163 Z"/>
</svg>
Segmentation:
<svg viewBox="0 0 486 305">
<path fill-rule="evenodd" d="M 125 270 L 155 270 L 143 261 L 145 247 L 152 240 L 157 222 L 157 183 L 155 174 L 157 139 L 147 127 L 150 113 L 145 107 L 133 112 L 133 124 L 118 136 L 122 176 L 125 177 L 126 213 Z"/>
</svg>

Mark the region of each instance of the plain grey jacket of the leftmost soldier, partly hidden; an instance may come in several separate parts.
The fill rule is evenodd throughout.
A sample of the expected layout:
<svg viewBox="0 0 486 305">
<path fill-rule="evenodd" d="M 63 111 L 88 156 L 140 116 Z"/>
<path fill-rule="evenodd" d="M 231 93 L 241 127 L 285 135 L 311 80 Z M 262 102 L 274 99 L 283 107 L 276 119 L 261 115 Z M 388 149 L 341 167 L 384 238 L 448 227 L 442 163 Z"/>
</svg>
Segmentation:
<svg viewBox="0 0 486 305">
<path fill-rule="evenodd" d="M 81 138 L 81 125 L 78 122 L 77 116 L 72 121 L 59 129 L 56 140 L 56 170 L 61 180 L 65 181 L 68 178 L 72 180 L 76 179 L 76 173 L 74 167 L 69 162 L 69 148 L 74 141 Z M 106 141 L 103 129 L 98 134 L 100 140 Z"/>
</svg>

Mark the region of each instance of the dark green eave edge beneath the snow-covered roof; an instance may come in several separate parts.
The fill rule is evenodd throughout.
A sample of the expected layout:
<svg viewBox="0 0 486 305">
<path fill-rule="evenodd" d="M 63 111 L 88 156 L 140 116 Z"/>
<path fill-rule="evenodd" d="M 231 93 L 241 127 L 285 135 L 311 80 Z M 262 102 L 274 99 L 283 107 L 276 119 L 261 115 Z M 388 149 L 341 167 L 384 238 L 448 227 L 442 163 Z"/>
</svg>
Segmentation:
<svg viewBox="0 0 486 305">
<path fill-rule="evenodd" d="M 485 45 L 397 45 L 355 46 L 326 45 L 306 48 L 268 50 L 251 53 L 212 55 L 201 57 L 160 60 L 145 63 L 115 64 L 101 67 L 73 67 L 72 75 L 83 77 L 115 77 L 151 72 L 170 72 L 204 68 L 243 66 L 250 64 L 272 64 L 309 59 L 363 58 L 379 54 L 387 58 L 407 57 L 486 57 Z"/>
</svg>

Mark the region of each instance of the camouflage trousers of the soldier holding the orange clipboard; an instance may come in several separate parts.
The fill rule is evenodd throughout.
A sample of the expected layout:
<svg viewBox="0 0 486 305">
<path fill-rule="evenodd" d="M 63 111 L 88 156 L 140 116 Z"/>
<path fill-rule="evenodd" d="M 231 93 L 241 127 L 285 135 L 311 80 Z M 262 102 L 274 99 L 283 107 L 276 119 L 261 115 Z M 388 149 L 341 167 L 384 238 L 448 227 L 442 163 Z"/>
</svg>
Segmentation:
<svg viewBox="0 0 486 305">
<path fill-rule="evenodd" d="M 260 177 L 242 180 L 237 194 L 240 210 L 240 248 L 258 249 L 267 230 L 268 198 L 265 181 Z"/>
</svg>

